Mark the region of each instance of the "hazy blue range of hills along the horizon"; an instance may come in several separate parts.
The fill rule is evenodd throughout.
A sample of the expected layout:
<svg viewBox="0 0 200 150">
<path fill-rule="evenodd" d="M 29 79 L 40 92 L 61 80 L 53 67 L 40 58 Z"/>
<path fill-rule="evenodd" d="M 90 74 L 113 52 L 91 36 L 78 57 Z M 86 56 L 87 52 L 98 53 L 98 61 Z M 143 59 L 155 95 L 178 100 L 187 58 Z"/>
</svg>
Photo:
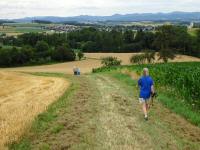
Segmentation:
<svg viewBox="0 0 200 150">
<path fill-rule="evenodd" d="M 171 13 L 133 13 L 133 14 L 114 14 L 112 16 L 89 16 L 80 15 L 74 17 L 26 17 L 15 19 L 16 22 L 31 22 L 32 20 L 44 20 L 51 22 L 97 22 L 97 21 L 198 21 L 200 12 L 171 12 Z"/>
</svg>

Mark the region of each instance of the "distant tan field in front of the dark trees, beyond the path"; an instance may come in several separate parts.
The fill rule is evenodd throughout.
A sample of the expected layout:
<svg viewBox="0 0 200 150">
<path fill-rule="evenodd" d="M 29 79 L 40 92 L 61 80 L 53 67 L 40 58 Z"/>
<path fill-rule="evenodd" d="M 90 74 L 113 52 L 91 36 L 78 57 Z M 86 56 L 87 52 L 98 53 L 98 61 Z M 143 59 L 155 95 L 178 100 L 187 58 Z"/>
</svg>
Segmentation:
<svg viewBox="0 0 200 150">
<path fill-rule="evenodd" d="M 83 61 L 74 61 L 74 62 L 54 64 L 54 65 L 35 66 L 35 67 L 9 68 L 3 70 L 24 71 L 24 72 L 60 72 L 60 73 L 72 74 L 73 67 L 77 66 L 81 69 L 82 73 L 89 73 L 92 71 L 93 68 L 98 68 L 102 66 L 100 60 L 102 57 L 114 56 L 122 60 L 123 65 L 129 65 L 130 57 L 135 54 L 136 53 L 85 53 L 87 59 Z M 200 61 L 200 59 L 191 56 L 177 55 L 177 57 L 170 62 L 187 62 L 187 61 Z"/>
</svg>

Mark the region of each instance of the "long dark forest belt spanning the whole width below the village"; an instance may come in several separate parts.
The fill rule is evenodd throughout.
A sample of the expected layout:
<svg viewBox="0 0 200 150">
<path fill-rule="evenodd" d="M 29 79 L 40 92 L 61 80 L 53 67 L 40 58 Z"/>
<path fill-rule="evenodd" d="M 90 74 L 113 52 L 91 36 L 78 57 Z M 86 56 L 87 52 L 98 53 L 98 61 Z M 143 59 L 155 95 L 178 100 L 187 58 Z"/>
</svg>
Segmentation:
<svg viewBox="0 0 200 150">
<path fill-rule="evenodd" d="M 196 36 L 192 36 L 183 26 L 164 25 L 157 28 L 156 32 L 100 31 L 90 27 L 68 34 L 26 33 L 17 38 L 0 38 L 0 43 L 4 45 L 20 47 L 34 47 L 38 41 L 45 41 L 50 47 L 68 44 L 83 52 L 140 52 L 143 49 L 153 49 L 200 57 L 200 30 Z"/>
</svg>

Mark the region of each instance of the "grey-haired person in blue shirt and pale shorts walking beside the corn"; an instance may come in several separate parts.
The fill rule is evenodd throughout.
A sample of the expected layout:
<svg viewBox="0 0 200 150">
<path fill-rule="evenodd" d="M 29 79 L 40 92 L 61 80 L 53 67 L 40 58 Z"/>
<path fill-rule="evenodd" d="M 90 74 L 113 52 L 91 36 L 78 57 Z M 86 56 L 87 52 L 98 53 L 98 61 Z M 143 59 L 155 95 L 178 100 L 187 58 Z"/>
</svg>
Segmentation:
<svg viewBox="0 0 200 150">
<path fill-rule="evenodd" d="M 144 112 L 144 119 L 148 120 L 149 100 L 151 94 L 154 94 L 154 81 L 149 76 L 148 68 L 143 69 L 143 76 L 138 80 L 138 86 L 140 88 L 139 101 L 142 104 Z"/>
</svg>

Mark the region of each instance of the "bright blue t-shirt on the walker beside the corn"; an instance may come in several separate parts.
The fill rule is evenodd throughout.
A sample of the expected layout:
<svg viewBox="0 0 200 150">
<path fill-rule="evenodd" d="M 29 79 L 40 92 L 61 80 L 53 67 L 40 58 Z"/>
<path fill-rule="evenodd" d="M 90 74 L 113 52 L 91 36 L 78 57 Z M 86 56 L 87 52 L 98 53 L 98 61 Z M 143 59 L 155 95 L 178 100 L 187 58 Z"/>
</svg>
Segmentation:
<svg viewBox="0 0 200 150">
<path fill-rule="evenodd" d="M 151 96 L 153 79 L 150 76 L 142 76 L 138 80 L 138 85 L 140 87 L 140 98 L 149 99 Z"/>
</svg>

